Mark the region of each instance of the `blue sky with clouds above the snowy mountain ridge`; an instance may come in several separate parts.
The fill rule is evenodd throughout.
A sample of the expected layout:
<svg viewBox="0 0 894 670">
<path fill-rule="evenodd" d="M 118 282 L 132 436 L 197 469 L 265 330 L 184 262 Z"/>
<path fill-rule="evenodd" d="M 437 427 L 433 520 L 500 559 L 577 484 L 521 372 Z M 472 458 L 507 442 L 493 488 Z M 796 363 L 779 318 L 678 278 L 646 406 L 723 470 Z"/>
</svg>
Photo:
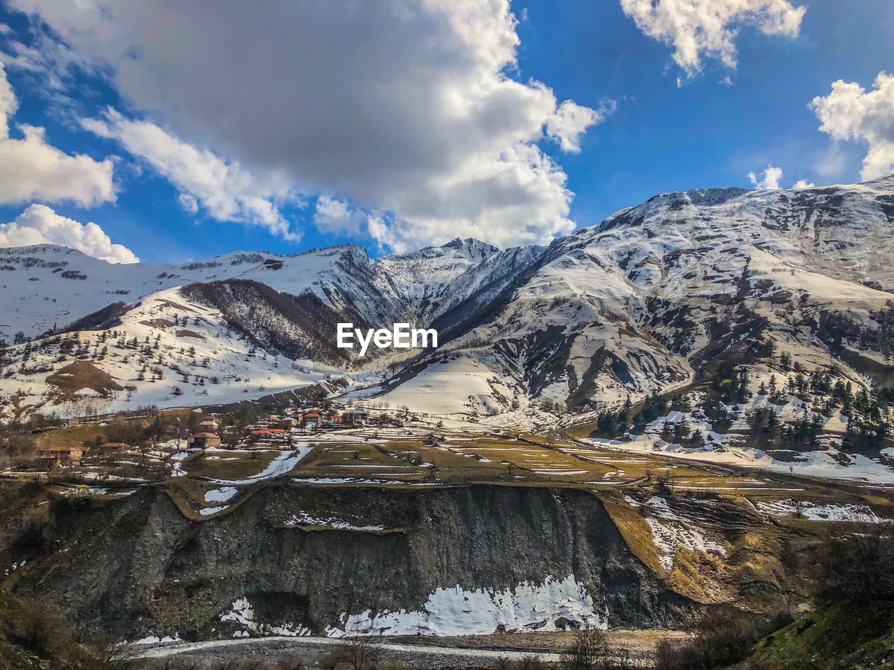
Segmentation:
<svg viewBox="0 0 894 670">
<path fill-rule="evenodd" d="M 732 51 L 705 46 L 688 65 L 674 59 L 681 36 L 662 33 L 661 3 L 649 14 L 643 2 L 457 3 L 452 15 L 409 3 L 356 17 L 327 14 L 333 3 L 246 16 L 235 3 L 202 36 L 196 17 L 178 26 L 129 3 L 0 4 L 10 138 L 38 126 L 38 148 L 64 155 L 47 155 L 58 172 L 47 183 L 38 151 L 13 147 L 35 184 L 0 188 L 0 246 L 71 239 L 125 260 L 111 242 L 156 263 L 346 241 L 381 255 L 457 235 L 509 246 L 660 191 L 753 188 L 769 165 L 781 176 L 763 185 L 780 188 L 890 172 L 894 84 L 873 89 L 894 72 L 890 0 L 716 0 L 752 11 L 721 13 L 738 31 Z M 765 29 L 777 19 L 788 27 Z M 863 92 L 833 98 L 836 80 Z M 824 131 L 816 96 L 829 96 Z M 445 113 L 457 97 L 462 113 Z M 566 100 L 583 127 L 551 125 Z M 85 183 L 66 191 L 79 170 Z M 46 207 L 22 216 L 30 205 Z"/>
</svg>

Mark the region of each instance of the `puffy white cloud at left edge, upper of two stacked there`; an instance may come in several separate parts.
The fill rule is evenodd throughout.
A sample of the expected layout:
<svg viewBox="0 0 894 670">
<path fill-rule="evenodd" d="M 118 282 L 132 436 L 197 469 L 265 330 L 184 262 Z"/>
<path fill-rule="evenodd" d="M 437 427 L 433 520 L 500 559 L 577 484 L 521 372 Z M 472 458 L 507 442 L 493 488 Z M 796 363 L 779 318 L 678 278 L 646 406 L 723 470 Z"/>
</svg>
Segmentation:
<svg viewBox="0 0 894 670">
<path fill-rule="evenodd" d="M 0 204 L 29 200 L 72 202 L 89 207 L 114 201 L 112 162 L 67 155 L 46 143 L 44 129 L 22 124 L 10 137 L 19 101 L 0 63 Z"/>
</svg>

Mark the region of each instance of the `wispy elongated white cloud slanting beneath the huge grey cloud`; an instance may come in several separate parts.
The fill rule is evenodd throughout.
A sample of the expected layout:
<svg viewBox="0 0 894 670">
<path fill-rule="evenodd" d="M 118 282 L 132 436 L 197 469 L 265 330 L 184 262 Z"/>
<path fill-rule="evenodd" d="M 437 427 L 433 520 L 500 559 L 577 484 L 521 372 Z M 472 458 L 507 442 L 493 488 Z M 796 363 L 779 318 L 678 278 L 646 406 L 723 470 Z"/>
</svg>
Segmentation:
<svg viewBox="0 0 894 670">
<path fill-rule="evenodd" d="M 155 123 L 127 119 L 111 109 L 103 119 L 85 119 L 81 125 L 100 137 L 118 140 L 150 164 L 180 191 L 177 199 L 186 212 L 196 214 L 202 208 L 218 221 L 260 225 L 284 239 L 299 239 L 278 206 L 294 199 L 291 180 L 284 174 L 258 176 Z"/>
</svg>

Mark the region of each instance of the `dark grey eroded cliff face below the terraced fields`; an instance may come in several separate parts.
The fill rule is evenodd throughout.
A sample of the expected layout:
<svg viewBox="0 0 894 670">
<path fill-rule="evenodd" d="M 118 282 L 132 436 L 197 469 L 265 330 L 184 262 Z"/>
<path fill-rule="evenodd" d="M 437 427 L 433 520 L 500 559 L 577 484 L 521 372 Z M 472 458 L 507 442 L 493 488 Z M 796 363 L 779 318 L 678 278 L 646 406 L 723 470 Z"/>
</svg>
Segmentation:
<svg viewBox="0 0 894 670">
<path fill-rule="evenodd" d="M 289 523 L 308 516 L 376 530 Z M 49 595 L 80 627 L 131 641 L 333 634 L 376 616 L 386 633 L 408 622 L 481 632 L 483 608 L 495 630 L 552 630 L 588 610 L 595 624 L 658 626 L 696 607 L 665 589 L 600 500 L 579 490 L 282 484 L 197 523 L 148 488 L 68 503 L 60 525 L 17 592 Z"/>
</svg>

